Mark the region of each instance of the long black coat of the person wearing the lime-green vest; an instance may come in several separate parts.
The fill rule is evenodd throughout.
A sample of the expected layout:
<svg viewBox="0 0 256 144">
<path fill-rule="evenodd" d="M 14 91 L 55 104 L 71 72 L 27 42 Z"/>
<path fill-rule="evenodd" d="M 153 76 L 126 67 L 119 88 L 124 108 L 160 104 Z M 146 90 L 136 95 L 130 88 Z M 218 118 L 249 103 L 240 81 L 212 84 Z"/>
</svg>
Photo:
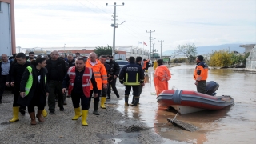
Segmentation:
<svg viewBox="0 0 256 144">
<path fill-rule="evenodd" d="M 22 105 L 22 106 L 29 106 L 30 105 L 30 101 L 35 95 L 35 91 L 37 90 L 37 86 L 38 86 L 38 72 L 35 68 L 34 65 L 31 65 L 32 67 L 32 75 L 33 75 L 33 84 L 32 87 L 30 89 L 30 92 L 28 95 L 26 95 L 26 97 L 22 98 L 19 97 L 18 98 L 18 104 Z M 24 73 L 22 75 L 22 80 L 21 80 L 21 85 L 20 85 L 20 91 L 21 92 L 25 92 L 25 86 L 26 86 L 26 82 L 29 79 L 30 76 L 30 72 L 29 70 L 25 69 Z M 46 76 L 46 81 L 45 81 L 45 76 Z M 42 95 L 44 96 L 44 99 L 46 100 L 46 92 L 49 93 L 49 88 L 48 88 L 48 84 L 47 84 L 47 69 L 46 68 L 42 68 L 41 70 L 41 78 L 40 78 L 40 88 L 42 91 Z M 43 102 L 42 102 L 43 103 Z"/>
</svg>

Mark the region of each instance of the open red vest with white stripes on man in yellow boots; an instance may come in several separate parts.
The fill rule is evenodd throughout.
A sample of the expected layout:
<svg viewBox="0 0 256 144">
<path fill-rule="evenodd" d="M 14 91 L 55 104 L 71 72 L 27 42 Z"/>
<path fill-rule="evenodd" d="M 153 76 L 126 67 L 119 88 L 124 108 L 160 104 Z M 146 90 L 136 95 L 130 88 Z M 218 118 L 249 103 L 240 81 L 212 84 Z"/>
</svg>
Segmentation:
<svg viewBox="0 0 256 144">
<path fill-rule="evenodd" d="M 90 79 L 93 75 L 92 71 L 93 70 L 91 70 L 91 68 L 85 67 L 85 71 L 82 75 L 82 91 L 87 98 L 90 97 Z M 67 71 L 67 74 L 70 77 L 70 85 L 69 85 L 68 93 L 71 94 L 74 87 L 75 66 L 70 67 L 69 70 Z"/>
</svg>

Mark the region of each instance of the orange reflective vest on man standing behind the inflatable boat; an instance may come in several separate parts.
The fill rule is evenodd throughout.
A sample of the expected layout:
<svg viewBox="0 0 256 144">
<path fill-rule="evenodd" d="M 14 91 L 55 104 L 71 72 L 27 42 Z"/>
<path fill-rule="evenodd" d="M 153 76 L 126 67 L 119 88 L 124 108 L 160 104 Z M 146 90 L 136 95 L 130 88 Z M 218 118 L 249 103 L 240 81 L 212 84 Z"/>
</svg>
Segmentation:
<svg viewBox="0 0 256 144">
<path fill-rule="evenodd" d="M 194 80 L 202 81 L 207 80 L 208 77 L 208 66 L 205 62 L 198 62 L 194 69 Z"/>
</svg>

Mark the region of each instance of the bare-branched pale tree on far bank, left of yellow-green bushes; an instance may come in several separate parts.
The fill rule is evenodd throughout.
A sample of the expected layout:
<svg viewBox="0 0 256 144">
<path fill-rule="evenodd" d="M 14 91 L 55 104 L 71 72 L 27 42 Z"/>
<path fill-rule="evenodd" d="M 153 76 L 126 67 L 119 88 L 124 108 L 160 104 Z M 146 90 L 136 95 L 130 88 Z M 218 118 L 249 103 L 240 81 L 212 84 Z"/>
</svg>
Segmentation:
<svg viewBox="0 0 256 144">
<path fill-rule="evenodd" d="M 193 44 L 178 45 L 176 52 L 178 54 L 185 54 L 189 62 L 194 62 L 196 55 L 198 54 L 197 46 Z"/>
</svg>

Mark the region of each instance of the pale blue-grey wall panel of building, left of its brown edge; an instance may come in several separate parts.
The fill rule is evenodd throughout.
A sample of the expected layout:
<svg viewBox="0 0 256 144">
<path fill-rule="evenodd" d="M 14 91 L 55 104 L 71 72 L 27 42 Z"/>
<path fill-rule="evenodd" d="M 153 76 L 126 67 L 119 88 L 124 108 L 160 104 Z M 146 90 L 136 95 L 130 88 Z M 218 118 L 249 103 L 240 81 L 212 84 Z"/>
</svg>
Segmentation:
<svg viewBox="0 0 256 144">
<path fill-rule="evenodd" d="M 11 27 L 10 27 L 10 4 L 1 2 L 0 11 L 0 54 L 12 54 L 11 48 Z"/>
</svg>

